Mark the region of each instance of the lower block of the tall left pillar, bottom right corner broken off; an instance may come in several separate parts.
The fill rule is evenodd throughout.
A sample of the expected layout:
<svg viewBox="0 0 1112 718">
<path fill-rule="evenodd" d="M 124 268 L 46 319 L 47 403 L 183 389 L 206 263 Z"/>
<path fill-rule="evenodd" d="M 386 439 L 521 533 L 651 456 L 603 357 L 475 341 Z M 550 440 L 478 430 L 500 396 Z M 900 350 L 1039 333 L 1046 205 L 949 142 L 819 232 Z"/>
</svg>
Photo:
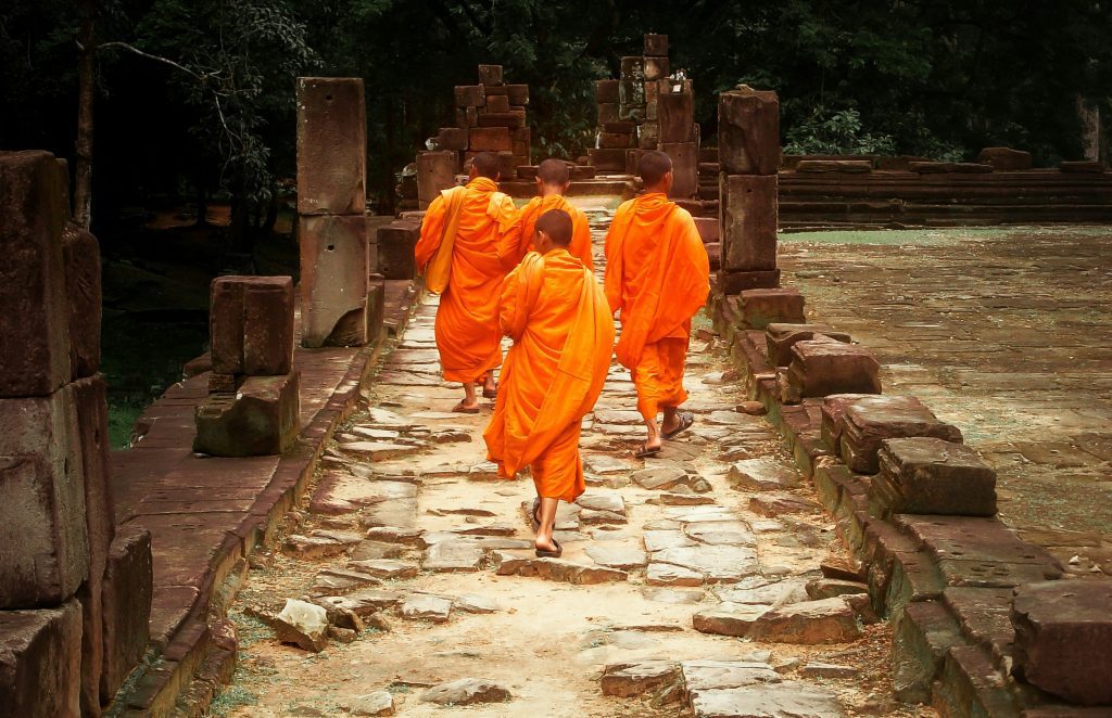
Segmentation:
<svg viewBox="0 0 1112 718">
<path fill-rule="evenodd" d="M 346 315 L 367 302 L 367 220 L 364 215 L 301 217 L 301 345 L 331 346 Z"/>
</svg>

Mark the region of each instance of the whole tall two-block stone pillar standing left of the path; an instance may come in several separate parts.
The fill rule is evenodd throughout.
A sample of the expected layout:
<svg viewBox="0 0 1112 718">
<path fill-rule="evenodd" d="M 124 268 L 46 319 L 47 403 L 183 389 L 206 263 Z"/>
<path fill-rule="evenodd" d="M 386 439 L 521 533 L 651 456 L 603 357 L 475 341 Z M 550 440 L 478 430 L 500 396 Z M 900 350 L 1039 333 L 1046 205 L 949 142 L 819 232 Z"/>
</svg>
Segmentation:
<svg viewBox="0 0 1112 718">
<path fill-rule="evenodd" d="M 298 78 L 301 343 L 367 341 L 367 119 L 363 80 Z"/>
</svg>

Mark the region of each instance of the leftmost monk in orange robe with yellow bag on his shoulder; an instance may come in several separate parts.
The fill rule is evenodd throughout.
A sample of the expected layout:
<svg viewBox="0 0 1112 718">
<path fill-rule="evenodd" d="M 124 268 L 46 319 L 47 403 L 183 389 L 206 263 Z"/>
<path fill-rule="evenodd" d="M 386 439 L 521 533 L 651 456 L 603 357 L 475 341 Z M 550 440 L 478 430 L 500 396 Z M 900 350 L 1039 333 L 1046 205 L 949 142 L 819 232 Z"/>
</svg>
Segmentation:
<svg viewBox="0 0 1112 718">
<path fill-rule="evenodd" d="M 502 365 L 498 297 L 506 272 L 514 267 L 520 213 L 514 200 L 498 191 L 498 157 L 475 156 L 464 187 L 433 200 L 414 251 L 417 267 L 445 283 L 436 312 L 436 348 L 447 381 L 464 385 L 464 398 L 453 408 L 478 413 L 476 382 L 483 396 L 496 397 L 494 370 Z M 441 255 L 440 250 L 450 252 Z M 446 276 L 446 281 L 444 281 Z"/>
</svg>

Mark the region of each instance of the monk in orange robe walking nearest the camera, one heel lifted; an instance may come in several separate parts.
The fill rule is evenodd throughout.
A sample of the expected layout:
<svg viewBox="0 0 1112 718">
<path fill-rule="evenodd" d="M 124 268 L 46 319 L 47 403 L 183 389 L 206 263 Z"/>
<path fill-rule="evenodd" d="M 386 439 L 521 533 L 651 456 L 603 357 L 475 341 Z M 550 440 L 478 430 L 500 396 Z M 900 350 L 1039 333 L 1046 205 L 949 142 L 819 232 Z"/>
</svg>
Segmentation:
<svg viewBox="0 0 1112 718">
<path fill-rule="evenodd" d="M 579 431 L 595 406 L 614 349 L 613 312 L 590 270 L 568 251 L 572 216 L 553 209 L 536 222 L 537 251 L 506 277 L 500 326 L 514 346 L 483 435 L 498 476 L 532 467 L 538 557 L 557 558 L 556 507 L 583 493 Z"/>
</svg>

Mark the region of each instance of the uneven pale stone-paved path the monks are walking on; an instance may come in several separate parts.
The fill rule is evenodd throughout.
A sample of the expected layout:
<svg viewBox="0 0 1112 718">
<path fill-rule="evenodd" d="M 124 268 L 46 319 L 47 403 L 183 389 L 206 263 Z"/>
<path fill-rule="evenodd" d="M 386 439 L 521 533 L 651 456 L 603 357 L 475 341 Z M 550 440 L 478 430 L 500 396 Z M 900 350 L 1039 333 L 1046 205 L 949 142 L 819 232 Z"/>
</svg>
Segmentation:
<svg viewBox="0 0 1112 718">
<path fill-rule="evenodd" d="M 933 715 L 888 697 L 888 627 L 771 426 L 735 410 L 708 330 L 688 359 L 695 427 L 649 461 L 613 367 L 585 421 L 587 492 L 557 515 L 564 557 L 542 560 L 532 481 L 484 460 L 489 402 L 445 412 L 458 386 L 439 377 L 435 311 L 335 436 L 279 550 L 252 557 L 218 712 Z"/>
</svg>

